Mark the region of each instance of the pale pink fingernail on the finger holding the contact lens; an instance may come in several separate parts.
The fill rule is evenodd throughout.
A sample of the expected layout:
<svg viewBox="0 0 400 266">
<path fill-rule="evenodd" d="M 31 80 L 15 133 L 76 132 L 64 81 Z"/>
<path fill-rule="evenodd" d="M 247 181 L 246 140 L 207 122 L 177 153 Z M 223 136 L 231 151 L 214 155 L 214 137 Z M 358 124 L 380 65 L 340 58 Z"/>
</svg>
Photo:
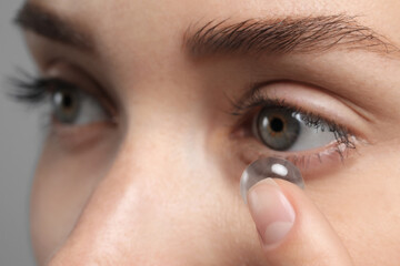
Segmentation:
<svg viewBox="0 0 400 266">
<path fill-rule="evenodd" d="M 250 188 L 248 203 L 264 247 L 279 244 L 294 224 L 296 213 L 279 185 L 272 178 Z"/>
</svg>

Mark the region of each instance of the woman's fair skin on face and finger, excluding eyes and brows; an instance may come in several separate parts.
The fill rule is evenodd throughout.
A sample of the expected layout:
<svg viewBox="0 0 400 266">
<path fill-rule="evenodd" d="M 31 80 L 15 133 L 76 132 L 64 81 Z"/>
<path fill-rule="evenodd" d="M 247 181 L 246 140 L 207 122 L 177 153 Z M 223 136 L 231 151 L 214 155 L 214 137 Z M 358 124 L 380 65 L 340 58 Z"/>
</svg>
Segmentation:
<svg viewBox="0 0 400 266">
<path fill-rule="evenodd" d="M 31 195 L 39 265 L 400 262 L 397 54 L 342 49 L 194 62 L 181 51 L 188 24 L 228 17 L 362 14 L 357 21 L 399 44 L 399 1 L 32 2 L 89 29 L 98 51 L 27 33 L 43 75 L 80 83 L 90 76 L 119 110 L 117 125 L 56 125 L 48 135 Z M 54 63 L 56 58 L 61 59 Z M 231 108 L 224 92 L 237 98 L 254 78 L 290 80 L 266 93 L 331 116 L 362 140 L 342 163 L 336 156 L 300 165 L 306 191 L 278 182 L 297 222 L 272 252 L 259 243 L 239 180 L 254 154 L 274 154 L 256 137 L 234 134 L 239 117 L 221 112 Z M 342 264 L 318 256 L 319 248 Z"/>
</svg>

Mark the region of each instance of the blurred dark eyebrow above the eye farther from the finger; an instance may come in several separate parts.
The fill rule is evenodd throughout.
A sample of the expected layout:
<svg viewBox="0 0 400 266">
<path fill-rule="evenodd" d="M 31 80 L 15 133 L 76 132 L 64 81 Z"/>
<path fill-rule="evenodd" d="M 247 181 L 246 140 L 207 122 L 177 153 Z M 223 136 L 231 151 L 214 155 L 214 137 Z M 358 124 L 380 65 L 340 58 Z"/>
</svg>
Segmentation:
<svg viewBox="0 0 400 266">
<path fill-rule="evenodd" d="M 19 27 L 50 40 L 92 51 L 94 45 L 80 27 L 43 7 L 24 3 L 13 20 Z"/>
</svg>

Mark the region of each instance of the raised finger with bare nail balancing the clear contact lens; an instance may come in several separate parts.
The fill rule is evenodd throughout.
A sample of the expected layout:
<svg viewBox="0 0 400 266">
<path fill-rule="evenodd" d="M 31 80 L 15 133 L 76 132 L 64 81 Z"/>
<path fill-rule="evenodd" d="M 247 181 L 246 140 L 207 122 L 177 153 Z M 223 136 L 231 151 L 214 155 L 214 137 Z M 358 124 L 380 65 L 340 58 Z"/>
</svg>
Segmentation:
<svg viewBox="0 0 400 266">
<path fill-rule="evenodd" d="M 326 217 L 290 182 L 257 183 L 249 190 L 248 204 L 270 265 L 352 265 Z"/>
</svg>

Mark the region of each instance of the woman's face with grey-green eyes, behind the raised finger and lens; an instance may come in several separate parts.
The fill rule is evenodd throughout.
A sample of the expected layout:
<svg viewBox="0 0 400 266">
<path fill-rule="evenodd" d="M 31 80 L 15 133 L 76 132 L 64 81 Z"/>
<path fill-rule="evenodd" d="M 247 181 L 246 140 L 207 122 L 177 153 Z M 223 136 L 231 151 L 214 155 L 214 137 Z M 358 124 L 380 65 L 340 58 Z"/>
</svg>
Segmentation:
<svg viewBox="0 0 400 266">
<path fill-rule="evenodd" d="M 20 23 L 52 101 L 31 196 L 39 264 L 266 265 L 239 181 L 278 156 L 357 265 L 396 265 L 399 12 L 397 0 L 29 1 Z"/>
</svg>

